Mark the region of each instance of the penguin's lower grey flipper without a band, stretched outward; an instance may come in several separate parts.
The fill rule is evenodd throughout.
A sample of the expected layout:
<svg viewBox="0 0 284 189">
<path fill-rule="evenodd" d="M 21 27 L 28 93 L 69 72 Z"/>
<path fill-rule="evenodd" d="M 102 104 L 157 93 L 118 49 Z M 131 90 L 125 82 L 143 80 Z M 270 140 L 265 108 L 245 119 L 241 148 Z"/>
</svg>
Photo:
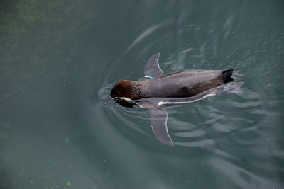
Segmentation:
<svg viewBox="0 0 284 189">
<path fill-rule="evenodd" d="M 149 103 L 141 102 L 138 104 L 143 106 L 144 108 L 148 108 L 151 119 L 151 127 L 155 134 L 155 137 L 157 137 L 157 139 L 163 144 L 173 147 L 172 139 L 168 134 L 168 113 L 162 108 Z"/>
</svg>

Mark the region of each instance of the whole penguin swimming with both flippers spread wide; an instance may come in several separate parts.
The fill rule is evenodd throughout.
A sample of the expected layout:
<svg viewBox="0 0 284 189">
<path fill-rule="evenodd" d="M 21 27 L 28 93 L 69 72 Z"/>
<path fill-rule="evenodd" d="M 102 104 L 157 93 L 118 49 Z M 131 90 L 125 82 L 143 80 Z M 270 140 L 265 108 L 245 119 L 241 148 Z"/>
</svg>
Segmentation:
<svg viewBox="0 0 284 189">
<path fill-rule="evenodd" d="M 163 74 L 158 58 L 153 55 L 144 68 L 142 81 L 119 81 L 111 89 L 110 96 L 127 108 L 138 105 L 150 113 L 155 137 L 165 145 L 174 146 L 168 134 L 168 113 L 163 108 L 200 101 L 222 93 L 241 93 L 244 82 L 234 82 L 239 74 L 233 69 L 187 69 Z"/>
</svg>

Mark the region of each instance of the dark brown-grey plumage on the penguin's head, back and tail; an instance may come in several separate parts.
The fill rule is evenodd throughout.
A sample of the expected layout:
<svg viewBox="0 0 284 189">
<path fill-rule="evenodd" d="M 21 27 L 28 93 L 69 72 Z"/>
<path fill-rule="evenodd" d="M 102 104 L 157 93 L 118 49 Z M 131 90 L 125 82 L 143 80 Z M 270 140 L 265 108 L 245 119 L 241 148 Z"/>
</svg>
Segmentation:
<svg viewBox="0 0 284 189">
<path fill-rule="evenodd" d="M 126 97 L 131 100 L 151 97 L 190 97 L 234 81 L 232 73 L 232 69 L 184 70 L 143 81 L 123 80 L 112 88 L 111 97 Z"/>
</svg>

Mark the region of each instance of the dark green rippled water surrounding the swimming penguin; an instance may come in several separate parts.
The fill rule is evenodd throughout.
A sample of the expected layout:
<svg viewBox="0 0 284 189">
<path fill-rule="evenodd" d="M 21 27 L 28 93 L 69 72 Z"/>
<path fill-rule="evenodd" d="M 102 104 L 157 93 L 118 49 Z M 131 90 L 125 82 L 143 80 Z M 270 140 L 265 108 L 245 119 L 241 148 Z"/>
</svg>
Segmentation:
<svg viewBox="0 0 284 189">
<path fill-rule="evenodd" d="M 283 188 L 283 1 L 0 1 L 0 188 Z M 239 70 L 238 95 L 148 112 L 116 81 Z"/>
</svg>

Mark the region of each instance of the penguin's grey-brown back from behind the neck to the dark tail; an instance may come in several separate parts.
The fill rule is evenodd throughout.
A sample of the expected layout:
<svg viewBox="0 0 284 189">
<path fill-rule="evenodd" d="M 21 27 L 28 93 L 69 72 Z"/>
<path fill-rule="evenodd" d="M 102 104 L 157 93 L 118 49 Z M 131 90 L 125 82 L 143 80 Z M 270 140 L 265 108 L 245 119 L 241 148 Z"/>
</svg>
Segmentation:
<svg viewBox="0 0 284 189">
<path fill-rule="evenodd" d="M 146 83 L 147 97 L 190 97 L 234 81 L 233 70 L 184 70 L 166 74 Z"/>
</svg>

